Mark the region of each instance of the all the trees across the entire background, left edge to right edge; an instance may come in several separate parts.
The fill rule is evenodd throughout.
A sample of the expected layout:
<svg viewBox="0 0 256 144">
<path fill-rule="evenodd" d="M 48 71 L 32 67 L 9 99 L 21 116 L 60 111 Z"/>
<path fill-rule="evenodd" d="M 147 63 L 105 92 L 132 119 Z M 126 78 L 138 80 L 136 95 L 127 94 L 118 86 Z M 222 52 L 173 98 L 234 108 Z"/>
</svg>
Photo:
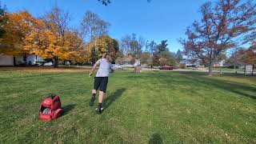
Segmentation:
<svg viewBox="0 0 256 144">
<path fill-rule="evenodd" d="M 103 5 L 110 1 L 98 0 Z M 227 50 L 239 49 L 231 59 L 244 64 L 255 64 L 256 4 L 252 0 L 217 0 L 206 2 L 200 8 L 201 19 L 186 29 L 186 38 L 180 38 L 183 50 L 170 52 L 166 40 L 160 43 L 146 41 L 136 34 L 127 34 L 119 41 L 108 35 L 110 23 L 87 11 L 78 27 L 70 26 L 70 14 L 54 6 L 40 18 L 27 11 L 6 12 L 0 8 L 0 54 L 15 56 L 36 54 L 46 61 L 92 64 L 103 53 L 110 53 L 114 62 L 122 58 L 140 59 L 150 66 L 175 66 L 182 54 L 189 59 L 201 59 L 213 73 L 214 62 L 225 56 Z"/>
</svg>

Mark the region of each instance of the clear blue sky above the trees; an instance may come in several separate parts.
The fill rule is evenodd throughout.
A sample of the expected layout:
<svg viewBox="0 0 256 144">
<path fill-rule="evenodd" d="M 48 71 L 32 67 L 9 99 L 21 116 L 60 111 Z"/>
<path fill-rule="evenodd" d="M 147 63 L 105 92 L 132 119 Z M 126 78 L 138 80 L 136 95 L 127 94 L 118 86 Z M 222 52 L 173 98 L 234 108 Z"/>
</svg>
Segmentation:
<svg viewBox="0 0 256 144">
<path fill-rule="evenodd" d="M 111 0 L 102 6 L 98 0 L 2 0 L 7 10 L 28 10 L 42 16 L 55 3 L 71 15 L 70 26 L 79 26 L 86 10 L 97 13 L 110 22 L 109 34 L 120 39 L 126 34 L 137 34 L 146 40 L 168 40 L 170 51 L 182 50 L 178 38 L 183 38 L 186 26 L 200 18 L 199 7 L 205 0 Z"/>
</svg>

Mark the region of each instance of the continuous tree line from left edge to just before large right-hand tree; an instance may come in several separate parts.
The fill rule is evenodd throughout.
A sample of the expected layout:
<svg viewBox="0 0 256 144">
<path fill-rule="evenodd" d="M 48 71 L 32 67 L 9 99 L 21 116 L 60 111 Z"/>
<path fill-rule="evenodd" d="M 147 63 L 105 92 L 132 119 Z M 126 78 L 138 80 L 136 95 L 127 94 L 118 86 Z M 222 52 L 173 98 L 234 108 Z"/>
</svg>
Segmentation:
<svg viewBox="0 0 256 144">
<path fill-rule="evenodd" d="M 86 11 L 78 27 L 70 26 L 70 14 L 58 6 L 39 18 L 26 10 L 8 13 L 5 7 L 0 8 L 0 15 L 0 54 L 13 55 L 14 64 L 17 56 L 27 63 L 28 54 L 54 62 L 54 67 L 60 61 L 94 64 L 106 52 L 117 63 L 128 56 L 150 66 L 174 66 L 176 62 L 166 40 L 156 44 L 127 34 L 118 41 L 108 35 L 110 23 L 91 11 Z"/>
</svg>

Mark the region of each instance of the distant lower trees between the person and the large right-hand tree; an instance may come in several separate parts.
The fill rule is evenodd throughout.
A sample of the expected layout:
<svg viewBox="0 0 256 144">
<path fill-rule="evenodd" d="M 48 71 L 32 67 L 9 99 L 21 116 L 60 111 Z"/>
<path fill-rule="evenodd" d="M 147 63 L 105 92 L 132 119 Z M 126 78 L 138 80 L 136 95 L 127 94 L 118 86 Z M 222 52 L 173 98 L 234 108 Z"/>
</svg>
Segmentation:
<svg viewBox="0 0 256 144">
<path fill-rule="evenodd" d="M 131 57 L 140 59 L 142 64 L 147 66 L 176 66 L 182 61 L 182 52 L 178 50 L 177 54 L 170 52 L 167 40 L 160 43 L 145 40 L 137 37 L 136 34 L 127 34 L 121 38 L 118 58 Z M 122 60 L 118 59 L 122 64 Z"/>
</svg>

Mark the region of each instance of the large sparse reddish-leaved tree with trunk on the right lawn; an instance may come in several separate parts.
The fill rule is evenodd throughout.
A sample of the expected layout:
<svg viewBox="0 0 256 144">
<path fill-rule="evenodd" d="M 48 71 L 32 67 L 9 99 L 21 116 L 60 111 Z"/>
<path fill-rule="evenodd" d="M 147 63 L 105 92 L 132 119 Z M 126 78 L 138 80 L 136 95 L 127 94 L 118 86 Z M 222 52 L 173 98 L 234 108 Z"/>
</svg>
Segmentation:
<svg viewBox="0 0 256 144">
<path fill-rule="evenodd" d="M 213 74 L 218 55 L 238 46 L 245 34 L 255 30 L 255 3 L 238 0 L 218 0 L 201 6 L 202 19 L 186 30 L 181 43 L 188 57 L 200 58 Z"/>
</svg>

